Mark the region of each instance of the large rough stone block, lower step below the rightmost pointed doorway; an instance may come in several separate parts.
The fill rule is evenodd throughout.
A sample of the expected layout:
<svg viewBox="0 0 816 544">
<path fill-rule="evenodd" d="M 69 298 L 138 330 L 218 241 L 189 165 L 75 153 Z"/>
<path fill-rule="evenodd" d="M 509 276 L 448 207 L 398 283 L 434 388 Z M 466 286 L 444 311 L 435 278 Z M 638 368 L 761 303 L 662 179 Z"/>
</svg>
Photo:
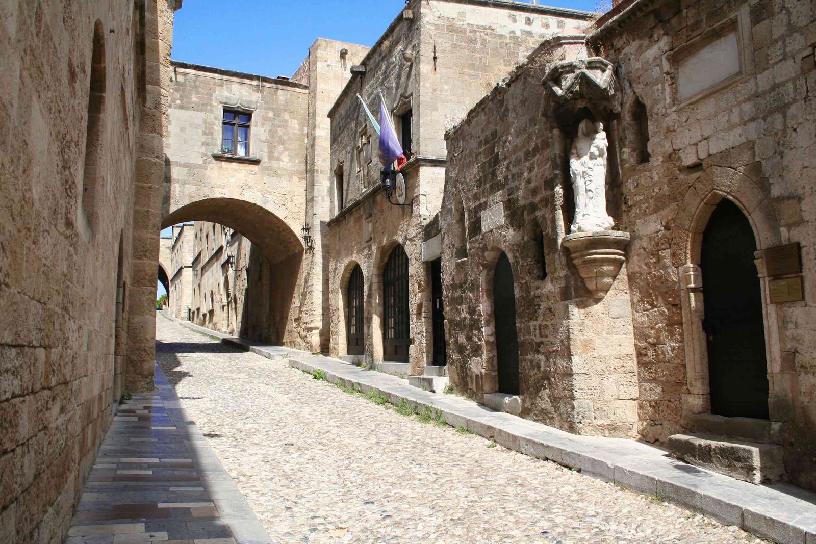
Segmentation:
<svg viewBox="0 0 816 544">
<path fill-rule="evenodd" d="M 752 484 L 782 480 L 785 474 L 778 444 L 698 434 L 669 436 L 667 445 L 672 457 Z"/>
</svg>

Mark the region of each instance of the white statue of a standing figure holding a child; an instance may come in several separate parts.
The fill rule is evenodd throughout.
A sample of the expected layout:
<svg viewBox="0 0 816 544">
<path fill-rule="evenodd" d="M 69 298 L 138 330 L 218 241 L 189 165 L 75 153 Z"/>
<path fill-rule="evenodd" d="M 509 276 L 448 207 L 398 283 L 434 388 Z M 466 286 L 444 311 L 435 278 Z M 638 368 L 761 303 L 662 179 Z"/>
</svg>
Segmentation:
<svg viewBox="0 0 816 544">
<path fill-rule="evenodd" d="M 606 139 L 604 126 L 584 119 L 570 152 L 575 193 L 575 219 L 570 232 L 608 231 L 614 220 L 606 213 Z"/>
</svg>

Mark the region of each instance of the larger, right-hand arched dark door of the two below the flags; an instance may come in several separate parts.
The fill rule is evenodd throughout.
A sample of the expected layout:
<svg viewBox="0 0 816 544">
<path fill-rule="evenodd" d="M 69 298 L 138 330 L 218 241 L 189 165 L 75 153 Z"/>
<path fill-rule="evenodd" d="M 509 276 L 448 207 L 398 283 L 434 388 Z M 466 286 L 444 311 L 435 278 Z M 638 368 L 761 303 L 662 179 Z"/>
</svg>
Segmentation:
<svg viewBox="0 0 816 544">
<path fill-rule="evenodd" d="M 408 255 L 397 245 L 383 271 L 383 360 L 408 362 Z"/>
</svg>

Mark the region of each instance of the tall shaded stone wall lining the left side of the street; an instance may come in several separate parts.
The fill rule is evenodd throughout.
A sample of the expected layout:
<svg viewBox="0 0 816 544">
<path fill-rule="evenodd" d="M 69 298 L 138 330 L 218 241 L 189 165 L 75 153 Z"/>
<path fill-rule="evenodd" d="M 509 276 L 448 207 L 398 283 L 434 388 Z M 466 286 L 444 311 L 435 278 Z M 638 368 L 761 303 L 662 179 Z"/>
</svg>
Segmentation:
<svg viewBox="0 0 816 544">
<path fill-rule="evenodd" d="M 0 10 L 0 542 L 62 542 L 120 394 L 152 387 L 180 4 Z"/>
</svg>

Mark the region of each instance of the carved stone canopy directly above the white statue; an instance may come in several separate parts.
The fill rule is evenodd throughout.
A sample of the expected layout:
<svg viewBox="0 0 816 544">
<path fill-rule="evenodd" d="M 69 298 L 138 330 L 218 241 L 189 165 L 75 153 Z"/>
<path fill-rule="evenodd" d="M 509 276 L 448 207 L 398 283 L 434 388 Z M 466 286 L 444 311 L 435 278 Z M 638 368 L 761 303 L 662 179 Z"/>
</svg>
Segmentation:
<svg viewBox="0 0 816 544">
<path fill-rule="evenodd" d="M 553 64 L 542 84 L 548 88 L 548 101 L 556 113 L 575 113 L 583 107 L 620 112 L 621 93 L 614 66 L 601 57 Z"/>
</svg>

